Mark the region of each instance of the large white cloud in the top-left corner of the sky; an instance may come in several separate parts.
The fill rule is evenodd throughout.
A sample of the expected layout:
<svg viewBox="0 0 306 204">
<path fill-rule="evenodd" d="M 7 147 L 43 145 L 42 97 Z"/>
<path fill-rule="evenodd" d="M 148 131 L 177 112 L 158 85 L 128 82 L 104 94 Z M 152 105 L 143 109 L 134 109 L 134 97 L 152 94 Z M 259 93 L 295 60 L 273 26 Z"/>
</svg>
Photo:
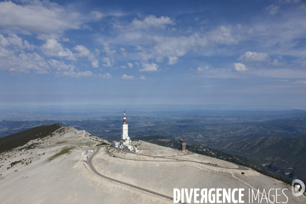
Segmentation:
<svg viewBox="0 0 306 204">
<path fill-rule="evenodd" d="M 79 29 L 80 17 L 79 12 L 68 12 L 49 1 L 27 1 L 23 5 L 0 2 L 0 27 L 27 34 L 52 35 Z"/>
</svg>

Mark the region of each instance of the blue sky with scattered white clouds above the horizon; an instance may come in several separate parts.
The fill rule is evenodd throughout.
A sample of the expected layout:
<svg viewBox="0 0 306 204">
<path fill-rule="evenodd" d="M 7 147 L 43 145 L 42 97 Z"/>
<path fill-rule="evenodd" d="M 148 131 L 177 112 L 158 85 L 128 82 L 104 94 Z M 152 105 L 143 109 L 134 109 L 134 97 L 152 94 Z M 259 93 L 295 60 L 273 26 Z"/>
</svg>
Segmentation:
<svg viewBox="0 0 306 204">
<path fill-rule="evenodd" d="M 1 1 L 0 104 L 305 109 L 303 1 Z"/>
</svg>

